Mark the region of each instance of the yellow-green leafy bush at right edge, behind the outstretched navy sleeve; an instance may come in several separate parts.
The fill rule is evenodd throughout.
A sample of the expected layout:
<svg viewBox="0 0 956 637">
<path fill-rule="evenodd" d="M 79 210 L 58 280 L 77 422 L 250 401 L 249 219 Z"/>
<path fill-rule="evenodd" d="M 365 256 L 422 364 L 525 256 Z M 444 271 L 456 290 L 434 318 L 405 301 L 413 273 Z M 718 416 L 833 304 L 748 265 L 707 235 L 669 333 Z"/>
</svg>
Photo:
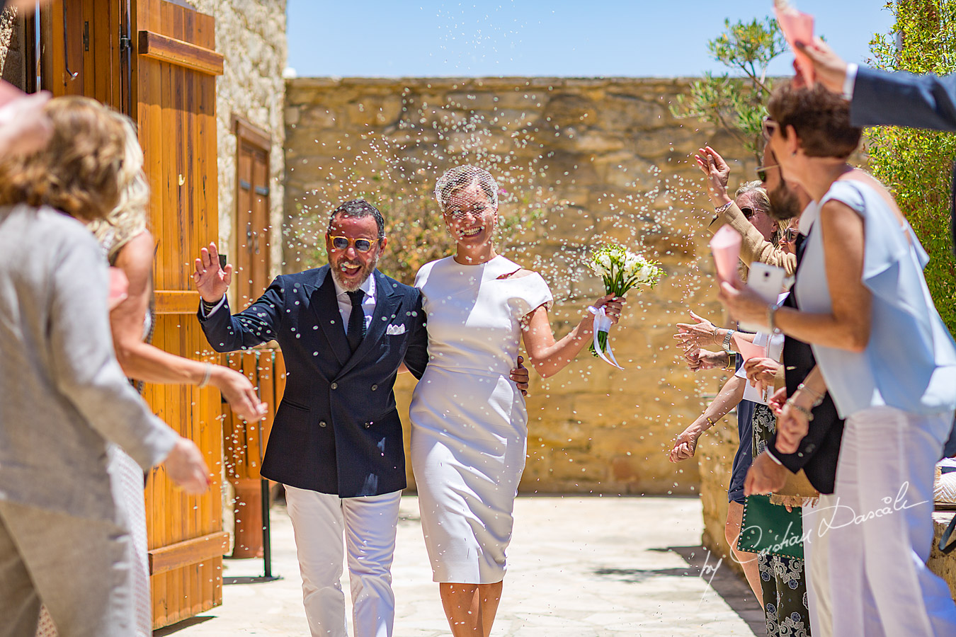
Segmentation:
<svg viewBox="0 0 956 637">
<path fill-rule="evenodd" d="M 887 2 L 885 9 L 893 11 L 896 24 L 894 33 L 871 41 L 876 66 L 916 74 L 956 71 L 956 0 Z M 948 221 L 956 134 L 895 126 L 867 133 L 873 173 L 893 189 L 929 253 L 926 283 L 946 326 L 956 332 L 956 263 Z"/>
</svg>

